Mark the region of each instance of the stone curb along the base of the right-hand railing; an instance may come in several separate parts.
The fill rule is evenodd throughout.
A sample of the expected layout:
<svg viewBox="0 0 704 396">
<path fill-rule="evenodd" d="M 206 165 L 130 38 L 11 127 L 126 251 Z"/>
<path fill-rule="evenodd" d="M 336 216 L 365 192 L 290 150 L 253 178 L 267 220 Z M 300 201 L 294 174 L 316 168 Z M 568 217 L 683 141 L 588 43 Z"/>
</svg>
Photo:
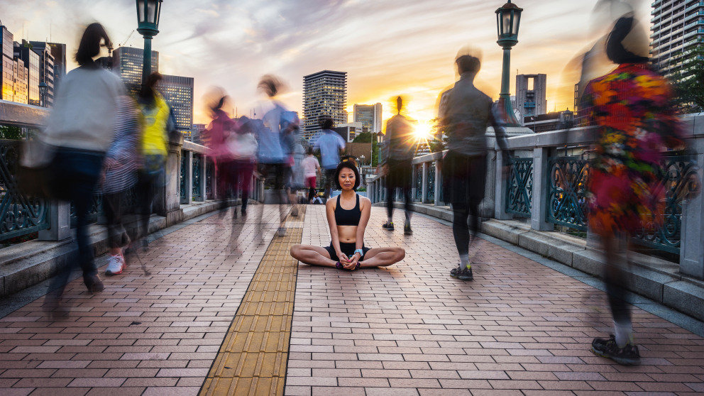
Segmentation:
<svg viewBox="0 0 704 396">
<path fill-rule="evenodd" d="M 374 206 L 383 207 L 385 203 Z M 394 207 L 403 209 L 395 202 Z M 444 221 L 452 221 L 449 207 L 413 204 L 412 210 Z M 602 277 L 603 256 L 586 246 L 581 238 L 556 231 L 534 231 L 528 224 L 515 220 L 488 219 L 482 222 L 482 233 L 537 253 L 557 263 Z M 659 258 L 629 252 L 632 264 L 627 269 L 627 290 L 704 321 L 704 281 L 679 272 L 679 266 Z"/>
</svg>

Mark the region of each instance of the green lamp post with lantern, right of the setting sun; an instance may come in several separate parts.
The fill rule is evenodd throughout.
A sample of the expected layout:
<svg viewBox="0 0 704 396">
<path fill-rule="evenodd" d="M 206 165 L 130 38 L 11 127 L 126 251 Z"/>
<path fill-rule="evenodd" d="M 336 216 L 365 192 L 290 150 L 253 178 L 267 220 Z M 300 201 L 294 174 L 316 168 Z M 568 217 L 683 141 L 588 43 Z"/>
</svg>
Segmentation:
<svg viewBox="0 0 704 396">
<path fill-rule="evenodd" d="M 499 94 L 499 109 L 506 126 L 520 126 L 511 106 L 509 88 L 509 72 L 511 70 L 511 47 L 518 43 L 518 27 L 521 23 L 523 9 L 508 0 L 496 10 L 496 28 L 499 39 L 496 41 L 504 50 L 504 61 L 501 71 L 501 93 Z"/>
</svg>

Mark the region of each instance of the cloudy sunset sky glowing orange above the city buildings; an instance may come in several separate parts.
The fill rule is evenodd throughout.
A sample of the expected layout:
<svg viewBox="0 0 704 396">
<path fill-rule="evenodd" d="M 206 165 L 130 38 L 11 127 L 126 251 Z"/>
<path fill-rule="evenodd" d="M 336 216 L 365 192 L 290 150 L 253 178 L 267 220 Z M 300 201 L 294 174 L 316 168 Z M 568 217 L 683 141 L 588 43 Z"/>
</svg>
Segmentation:
<svg viewBox="0 0 704 396">
<path fill-rule="evenodd" d="M 512 50 L 515 75 L 545 73 L 550 111 L 573 107 L 578 68 L 570 64 L 611 23 L 594 14 L 597 0 L 517 0 L 524 9 L 519 43 Z M 637 15 L 649 28 L 649 1 Z M 249 114 L 260 95 L 256 84 L 271 73 L 289 86 L 282 101 L 302 114 L 303 76 L 319 70 L 348 72 L 347 108 L 410 98 L 408 114 L 435 117 L 436 98 L 455 81 L 453 60 L 471 45 L 483 52 L 477 86 L 496 99 L 502 51 L 496 44 L 495 10 L 505 0 L 165 0 L 153 49 L 160 72 L 195 79 L 194 122 L 205 123 L 202 95 L 224 87 L 238 114 Z M 0 0 L 1 23 L 16 41 L 52 40 L 77 48 L 84 26 L 98 21 L 115 44 L 136 28 L 133 0 Z M 143 48 L 135 32 L 124 43 Z M 69 61 L 69 70 L 75 63 Z M 351 120 L 350 120 L 351 121 Z"/>
</svg>

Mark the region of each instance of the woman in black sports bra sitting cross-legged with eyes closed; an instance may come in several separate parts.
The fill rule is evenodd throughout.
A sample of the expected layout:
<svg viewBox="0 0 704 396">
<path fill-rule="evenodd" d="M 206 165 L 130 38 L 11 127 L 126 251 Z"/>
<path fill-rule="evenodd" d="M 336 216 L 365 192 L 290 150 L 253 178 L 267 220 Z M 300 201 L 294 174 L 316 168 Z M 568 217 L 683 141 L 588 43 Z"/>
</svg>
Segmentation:
<svg viewBox="0 0 704 396">
<path fill-rule="evenodd" d="M 371 201 L 355 192 L 359 187 L 357 167 L 350 162 L 337 165 L 335 182 L 342 193 L 325 204 L 332 238 L 330 246 L 295 245 L 291 248 L 293 258 L 306 264 L 340 270 L 384 267 L 403 260 L 406 252 L 402 248 L 364 246 L 364 229 L 369 221 Z"/>
</svg>

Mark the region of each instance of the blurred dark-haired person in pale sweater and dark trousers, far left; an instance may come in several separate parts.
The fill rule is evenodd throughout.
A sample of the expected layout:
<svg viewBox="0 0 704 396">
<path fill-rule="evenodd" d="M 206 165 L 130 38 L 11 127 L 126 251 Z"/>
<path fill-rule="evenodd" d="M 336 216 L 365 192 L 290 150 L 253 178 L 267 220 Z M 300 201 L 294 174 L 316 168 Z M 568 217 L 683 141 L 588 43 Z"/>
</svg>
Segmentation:
<svg viewBox="0 0 704 396">
<path fill-rule="evenodd" d="M 57 198 L 75 205 L 79 253 L 75 263 L 83 270 L 83 282 L 89 292 L 103 290 L 103 283 L 87 233 L 88 211 L 103 160 L 114 141 L 119 97 L 124 94 L 120 78 L 94 62 L 101 49 L 110 45 L 110 38 L 99 23 L 86 28 L 76 53 L 79 67 L 62 78 L 44 133 L 46 143 L 56 149 L 49 167 L 52 190 Z M 55 278 L 53 287 L 58 288 L 59 295 L 69 272 L 67 268 Z"/>
</svg>

